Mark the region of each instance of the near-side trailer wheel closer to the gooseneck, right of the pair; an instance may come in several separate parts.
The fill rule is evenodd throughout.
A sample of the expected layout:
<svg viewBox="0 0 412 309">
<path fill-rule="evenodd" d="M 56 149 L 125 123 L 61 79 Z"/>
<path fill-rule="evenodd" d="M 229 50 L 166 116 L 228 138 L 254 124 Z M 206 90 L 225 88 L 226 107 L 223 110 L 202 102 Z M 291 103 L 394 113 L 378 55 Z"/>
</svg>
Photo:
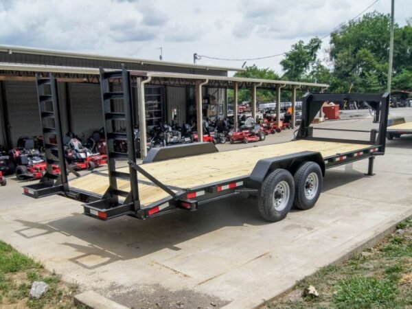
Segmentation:
<svg viewBox="0 0 412 309">
<path fill-rule="evenodd" d="M 295 180 L 295 201 L 297 209 L 310 209 L 321 195 L 323 176 L 319 164 L 304 162 L 293 176 Z"/>
</svg>

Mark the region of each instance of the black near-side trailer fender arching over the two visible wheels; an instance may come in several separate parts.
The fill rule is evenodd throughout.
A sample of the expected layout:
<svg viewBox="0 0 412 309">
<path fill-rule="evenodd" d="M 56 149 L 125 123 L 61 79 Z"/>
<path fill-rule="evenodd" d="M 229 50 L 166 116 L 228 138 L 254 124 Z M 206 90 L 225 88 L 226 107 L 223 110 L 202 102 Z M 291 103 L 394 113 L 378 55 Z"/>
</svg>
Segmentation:
<svg viewBox="0 0 412 309">
<path fill-rule="evenodd" d="M 302 151 L 258 161 L 255 168 L 253 168 L 251 176 L 249 176 L 247 187 L 260 189 L 266 176 L 278 168 L 283 168 L 284 170 L 288 170 L 292 174 L 295 174 L 299 165 L 305 161 L 318 163 L 321 167 L 322 175 L 325 176 L 325 161 L 320 152 Z"/>
</svg>

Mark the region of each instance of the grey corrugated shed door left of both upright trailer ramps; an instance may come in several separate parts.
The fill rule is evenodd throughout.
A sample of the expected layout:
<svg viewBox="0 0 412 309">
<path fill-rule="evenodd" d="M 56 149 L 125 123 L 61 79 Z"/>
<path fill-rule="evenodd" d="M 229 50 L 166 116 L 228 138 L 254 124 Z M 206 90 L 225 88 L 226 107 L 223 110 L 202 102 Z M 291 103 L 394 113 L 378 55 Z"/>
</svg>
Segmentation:
<svg viewBox="0 0 412 309">
<path fill-rule="evenodd" d="M 13 146 L 21 136 L 41 135 L 35 82 L 5 82 Z"/>
</svg>

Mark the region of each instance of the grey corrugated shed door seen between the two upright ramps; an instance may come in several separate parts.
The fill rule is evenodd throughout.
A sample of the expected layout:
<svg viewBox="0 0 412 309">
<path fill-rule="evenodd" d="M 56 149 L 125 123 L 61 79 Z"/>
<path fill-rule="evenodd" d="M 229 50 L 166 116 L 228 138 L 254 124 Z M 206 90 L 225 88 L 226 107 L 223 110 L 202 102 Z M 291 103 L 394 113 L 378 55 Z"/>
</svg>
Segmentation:
<svg viewBox="0 0 412 309">
<path fill-rule="evenodd" d="M 79 137 L 89 137 L 103 126 L 102 100 L 99 84 L 70 84 L 73 131 Z"/>
</svg>

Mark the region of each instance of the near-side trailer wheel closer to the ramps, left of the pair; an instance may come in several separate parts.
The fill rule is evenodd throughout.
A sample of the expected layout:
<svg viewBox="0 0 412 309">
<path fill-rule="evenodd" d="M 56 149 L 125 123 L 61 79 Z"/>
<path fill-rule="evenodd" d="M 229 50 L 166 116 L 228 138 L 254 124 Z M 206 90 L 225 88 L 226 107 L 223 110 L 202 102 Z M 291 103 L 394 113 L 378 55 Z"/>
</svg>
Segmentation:
<svg viewBox="0 0 412 309">
<path fill-rule="evenodd" d="M 283 169 L 275 170 L 262 184 L 258 201 L 260 215 L 271 222 L 284 219 L 292 208 L 294 196 L 292 174 Z"/>
</svg>

